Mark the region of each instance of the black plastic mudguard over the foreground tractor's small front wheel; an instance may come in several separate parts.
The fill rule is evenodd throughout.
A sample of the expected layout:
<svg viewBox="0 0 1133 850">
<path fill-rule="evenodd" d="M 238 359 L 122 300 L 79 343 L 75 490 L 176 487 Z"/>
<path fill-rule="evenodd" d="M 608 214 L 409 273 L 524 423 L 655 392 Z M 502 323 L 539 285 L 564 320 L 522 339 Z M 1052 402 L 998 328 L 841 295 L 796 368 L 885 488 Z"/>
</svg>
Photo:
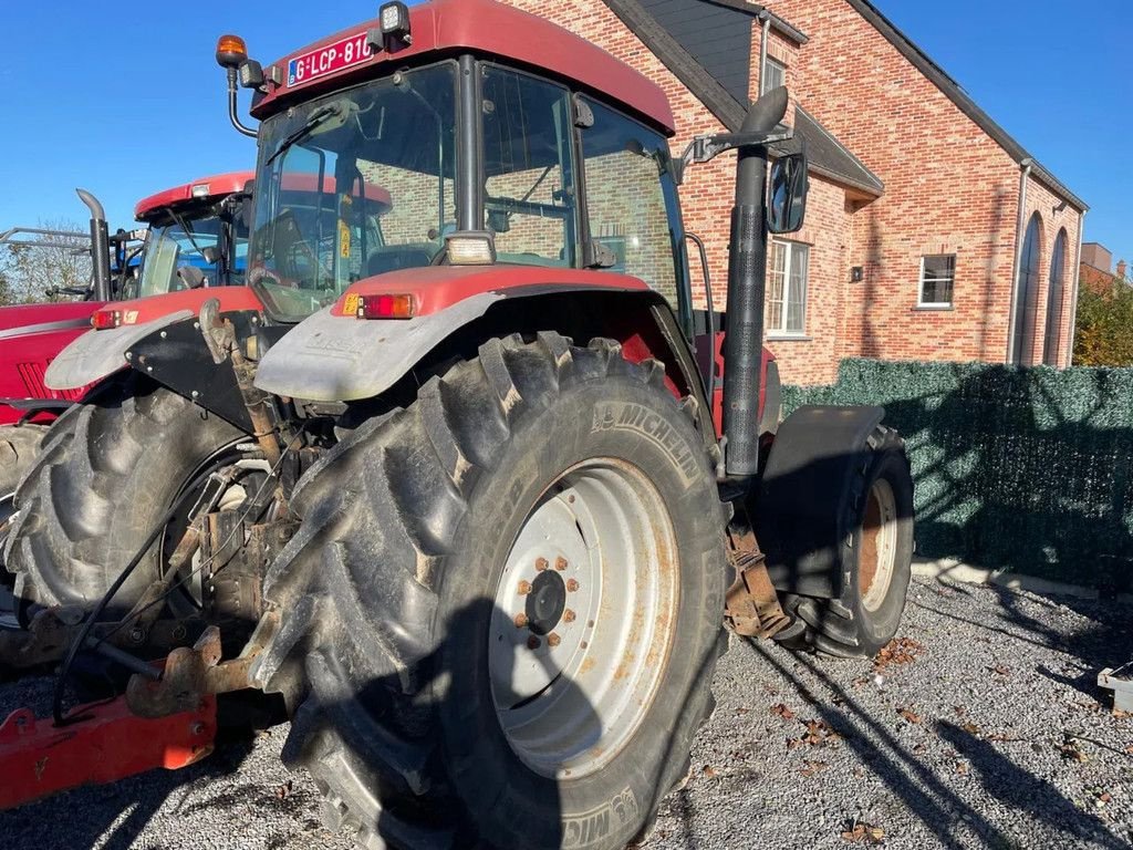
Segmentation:
<svg viewBox="0 0 1133 850">
<path fill-rule="evenodd" d="M 755 507 L 756 536 L 775 589 L 837 598 L 845 580 L 843 543 L 863 493 L 867 440 L 885 417 L 880 407 L 795 410 L 780 426 Z"/>
</svg>

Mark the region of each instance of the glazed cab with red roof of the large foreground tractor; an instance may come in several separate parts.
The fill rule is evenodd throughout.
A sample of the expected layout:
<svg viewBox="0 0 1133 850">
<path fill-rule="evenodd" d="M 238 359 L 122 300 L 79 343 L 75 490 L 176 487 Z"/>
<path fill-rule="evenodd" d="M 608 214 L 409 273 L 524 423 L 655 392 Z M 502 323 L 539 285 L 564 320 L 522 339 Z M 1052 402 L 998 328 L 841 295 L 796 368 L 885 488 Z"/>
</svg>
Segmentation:
<svg viewBox="0 0 1133 850">
<path fill-rule="evenodd" d="M 658 90 L 499 3 L 401 8 L 266 71 L 235 60 L 262 121 L 248 281 L 269 312 L 406 269 L 538 266 L 639 278 L 689 326 Z"/>
</svg>

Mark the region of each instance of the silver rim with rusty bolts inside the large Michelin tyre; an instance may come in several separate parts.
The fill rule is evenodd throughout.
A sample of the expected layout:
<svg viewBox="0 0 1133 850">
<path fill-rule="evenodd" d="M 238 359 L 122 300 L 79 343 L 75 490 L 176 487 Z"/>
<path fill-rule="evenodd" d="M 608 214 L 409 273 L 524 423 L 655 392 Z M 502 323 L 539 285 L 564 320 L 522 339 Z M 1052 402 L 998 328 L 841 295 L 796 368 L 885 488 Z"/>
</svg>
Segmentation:
<svg viewBox="0 0 1133 850">
<path fill-rule="evenodd" d="M 648 714 L 678 606 L 676 538 L 636 466 L 596 458 L 528 513 L 496 586 L 488 672 L 501 729 L 533 771 L 602 770 Z"/>
</svg>

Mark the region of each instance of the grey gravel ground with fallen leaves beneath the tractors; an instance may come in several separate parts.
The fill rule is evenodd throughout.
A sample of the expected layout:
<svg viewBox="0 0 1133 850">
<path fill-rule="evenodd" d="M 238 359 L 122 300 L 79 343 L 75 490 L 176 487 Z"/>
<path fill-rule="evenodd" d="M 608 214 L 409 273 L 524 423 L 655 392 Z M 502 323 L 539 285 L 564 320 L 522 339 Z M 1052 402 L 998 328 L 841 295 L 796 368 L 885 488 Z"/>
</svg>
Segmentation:
<svg viewBox="0 0 1133 850">
<path fill-rule="evenodd" d="M 918 579 L 877 663 L 735 643 L 645 847 L 1127 848 L 1133 717 L 1099 699 L 1131 609 Z M 48 705 L 50 682 L 0 688 Z M 6 848 L 349 848 L 279 763 L 286 728 L 207 762 L 0 815 Z"/>
</svg>

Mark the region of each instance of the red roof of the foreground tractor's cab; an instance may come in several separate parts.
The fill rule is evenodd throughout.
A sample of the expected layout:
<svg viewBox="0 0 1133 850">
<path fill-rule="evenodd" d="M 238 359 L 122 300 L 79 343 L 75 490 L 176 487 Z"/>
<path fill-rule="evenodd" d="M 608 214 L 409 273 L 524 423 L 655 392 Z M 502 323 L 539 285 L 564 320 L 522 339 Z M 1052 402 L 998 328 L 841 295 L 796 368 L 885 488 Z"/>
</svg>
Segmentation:
<svg viewBox="0 0 1133 850">
<path fill-rule="evenodd" d="M 380 27 L 378 20 L 369 20 L 283 57 L 275 62 L 281 84 L 270 84 L 267 93 L 254 102 L 253 116 L 264 119 L 295 102 L 297 95 L 306 100 L 403 67 L 415 59 L 471 52 L 577 84 L 673 134 L 673 112 L 659 86 L 600 48 L 543 18 L 495 0 L 432 0 L 410 8 L 409 16 L 412 43 L 392 53 L 375 50 L 364 60 L 341 61 L 346 42 L 365 43 L 366 34 Z M 339 61 L 326 62 L 327 70 L 307 74 L 303 79 L 290 73 L 293 61 L 335 46 L 340 48 Z"/>
</svg>

